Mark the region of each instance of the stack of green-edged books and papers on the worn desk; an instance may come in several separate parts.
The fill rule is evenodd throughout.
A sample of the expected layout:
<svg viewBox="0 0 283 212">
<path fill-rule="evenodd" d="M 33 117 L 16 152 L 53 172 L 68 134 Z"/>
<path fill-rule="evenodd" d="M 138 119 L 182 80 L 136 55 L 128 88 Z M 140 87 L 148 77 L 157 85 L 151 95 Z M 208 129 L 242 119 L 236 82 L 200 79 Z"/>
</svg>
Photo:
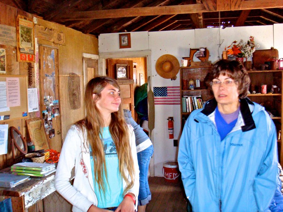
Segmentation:
<svg viewBox="0 0 283 212">
<path fill-rule="evenodd" d="M 13 171 L 13 174 L 17 175 L 45 177 L 55 172 L 56 169 L 54 164 L 24 162 L 11 166 L 11 171 Z"/>
</svg>

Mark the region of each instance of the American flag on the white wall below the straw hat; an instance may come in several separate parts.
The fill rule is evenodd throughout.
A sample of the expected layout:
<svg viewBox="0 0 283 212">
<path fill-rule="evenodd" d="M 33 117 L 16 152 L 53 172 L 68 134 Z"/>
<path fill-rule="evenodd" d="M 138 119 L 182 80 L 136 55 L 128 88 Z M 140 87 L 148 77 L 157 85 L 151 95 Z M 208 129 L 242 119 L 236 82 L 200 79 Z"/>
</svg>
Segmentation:
<svg viewBox="0 0 283 212">
<path fill-rule="evenodd" d="M 153 87 L 155 105 L 180 105 L 180 86 Z"/>
</svg>

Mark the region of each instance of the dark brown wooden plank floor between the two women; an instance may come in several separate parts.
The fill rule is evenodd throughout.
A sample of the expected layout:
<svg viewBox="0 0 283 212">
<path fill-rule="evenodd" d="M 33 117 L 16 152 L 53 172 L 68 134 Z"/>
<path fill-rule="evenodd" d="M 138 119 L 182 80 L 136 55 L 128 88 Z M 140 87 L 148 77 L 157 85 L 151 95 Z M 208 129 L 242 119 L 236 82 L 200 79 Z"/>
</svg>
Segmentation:
<svg viewBox="0 0 283 212">
<path fill-rule="evenodd" d="M 186 199 L 181 182 L 165 182 L 164 177 L 149 177 L 151 201 L 146 212 L 186 212 Z"/>
</svg>

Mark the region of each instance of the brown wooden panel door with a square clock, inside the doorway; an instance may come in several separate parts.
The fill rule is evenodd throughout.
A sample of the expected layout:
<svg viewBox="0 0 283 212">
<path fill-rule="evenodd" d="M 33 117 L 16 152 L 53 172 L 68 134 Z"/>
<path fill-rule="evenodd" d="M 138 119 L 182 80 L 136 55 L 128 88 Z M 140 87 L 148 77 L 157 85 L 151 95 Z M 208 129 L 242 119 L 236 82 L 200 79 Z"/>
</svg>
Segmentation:
<svg viewBox="0 0 283 212">
<path fill-rule="evenodd" d="M 134 79 L 133 79 L 133 61 L 132 60 L 119 60 L 119 59 L 107 59 L 107 75 L 114 79 L 117 79 L 116 64 L 127 65 L 128 79 L 119 79 L 118 84 L 120 85 L 120 94 L 122 108 L 128 109 L 132 112 L 132 117 L 135 119 L 135 105 L 134 105 Z"/>
</svg>

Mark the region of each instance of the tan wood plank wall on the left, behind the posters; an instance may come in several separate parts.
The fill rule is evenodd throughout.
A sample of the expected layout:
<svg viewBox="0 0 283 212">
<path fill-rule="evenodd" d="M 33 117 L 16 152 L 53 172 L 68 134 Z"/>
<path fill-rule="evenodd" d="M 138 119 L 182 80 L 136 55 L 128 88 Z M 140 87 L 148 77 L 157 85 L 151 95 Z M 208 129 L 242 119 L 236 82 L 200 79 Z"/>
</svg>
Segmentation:
<svg viewBox="0 0 283 212">
<path fill-rule="evenodd" d="M 17 15 L 23 15 L 28 18 L 33 18 L 32 14 L 26 13 L 17 8 L 8 6 L 0 2 L 0 24 L 8 26 L 16 26 Z M 72 110 L 69 104 L 69 94 L 68 94 L 68 74 L 76 73 L 80 76 L 81 86 L 80 91 L 83 94 L 83 59 L 82 53 L 88 54 L 98 54 L 98 40 L 92 35 L 85 35 L 79 31 L 69 29 L 64 25 L 56 24 L 53 22 L 48 22 L 43 19 L 37 18 L 37 24 L 48 27 L 49 29 L 55 29 L 58 32 L 63 32 L 65 34 L 65 46 L 54 44 L 51 41 L 38 39 L 38 44 L 54 46 L 58 48 L 59 53 L 59 85 L 60 85 L 60 112 L 61 112 L 61 124 L 62 124 L 62 137 L 64 139 L 70 125 L 75 121 L 78 121 L 84 116 L 83 102 L 81 100 L 81 107 L 77 110 Z M 36 36 L 36 32 L 35 32 Z M 28 64 L 19 63 L 16 60 L 16 49 L 13 46 L 0 45 L 0 48 L 6 49 L 6 59 L 7 59 L 7 74 L 13 75 L 27 75 L 28 74 Z M 34 67 L 34 64 L 32 64 Z M 34 68 L 33 68 L 34 75 Z M 35 78 L 33 76 L 33 84 L 28 88 L 35 88 Z M 83 96 L 83 95 L 81 95 Z M 40 109 L 41 111 L 41 109 Z M 70 115 L 71 114 L 71 115 Z M 36 112 L 29 113 L 29 118 L 37 117 Z M 3 124 L 3 123 L 2 123 Z M 26 126 L 25 119 L 19 119 L 16 121 L 7 121 L 4 124 L 14 126 L 19 129 L 19 131 L 26 136 Z M 60 149 L 59 149 L 60 150 Z M 8 141 L 8 154 L 0 155 L 0 169 L 6 168 L 13 164 L 12 152 L 10 141 Z"/>
</svg>

